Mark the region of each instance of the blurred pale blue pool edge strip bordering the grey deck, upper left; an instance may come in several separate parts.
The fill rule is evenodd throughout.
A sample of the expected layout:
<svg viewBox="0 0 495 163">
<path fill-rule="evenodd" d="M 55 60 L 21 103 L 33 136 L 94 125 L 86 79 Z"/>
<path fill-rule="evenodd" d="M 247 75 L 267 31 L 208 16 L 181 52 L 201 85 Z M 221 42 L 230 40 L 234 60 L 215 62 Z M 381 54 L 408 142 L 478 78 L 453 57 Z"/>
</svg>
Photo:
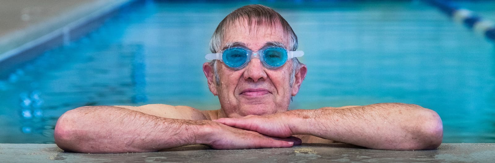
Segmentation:
<svg viewBox="0 0 495 163">
<path fill-rule="evenodd" d="M 52 22 L 46 22 L 45 24 L 36 24 L 34 27 L 28 27 L 22 29 L 18 35 L 15 33 L 9 33 L 3 35 L 3 40 L 20 40 L 21 45 L 16 46 L 13 49 L 5 49 L 5 52 L 0 54 L 0 79 L 6 79 L 10 72 L 19 68 L 24 63 L 31 61 L 41 55 L 44 51 L 67 45 L 70 41 L 80 38 L 87 33 L 99 28 L 108 18 L 114 16 L 118 11 L 129 6 L 135 2 L 142 0 L 114 0 L 114 1 L 96 1 L 94 4 L 88 4 L 90 8 L 102 7 L 94 10 L 83 10 L 77 14 L 76 11 L 72 11 L 73 15 L 70 23 L 65 23 L 64 20 L 57 20 Z M 101 3 L 101 4 L 98 4 Z M 61 13 L 70 15 L 71 13 Z M 57 18 L 60 15 L 57 15 Z M 63 17 L 63 15 L 62 15 Z M 50 28 L 50 26 L 55 26 Z M 35 29 L 35 30 L 33 30 Z M 19 32 L 16 32 L 19 33 Z M 40 37 L 29 38 L 30 34 L 42 33 Z M 7 43 L 8 44 L 8 43 Z M 5 45 L 7 48 L 8 46 Z"/>
</svg>

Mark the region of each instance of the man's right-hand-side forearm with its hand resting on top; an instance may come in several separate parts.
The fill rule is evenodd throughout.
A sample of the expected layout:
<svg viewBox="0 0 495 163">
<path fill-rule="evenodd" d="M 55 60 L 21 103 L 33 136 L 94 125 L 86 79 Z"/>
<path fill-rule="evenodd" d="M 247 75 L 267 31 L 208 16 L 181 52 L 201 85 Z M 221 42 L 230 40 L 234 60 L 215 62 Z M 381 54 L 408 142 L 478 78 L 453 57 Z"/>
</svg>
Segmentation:
<svg viewBox="0 0 495 163">
<path fill-rule="evenodd" d="M 384 150 L 435 149 L 443 137 L 442 120 L 435 111 L 403 103 L 299 109 L 216 122 L 270 136 L 308 134 Z"/>
</svg>

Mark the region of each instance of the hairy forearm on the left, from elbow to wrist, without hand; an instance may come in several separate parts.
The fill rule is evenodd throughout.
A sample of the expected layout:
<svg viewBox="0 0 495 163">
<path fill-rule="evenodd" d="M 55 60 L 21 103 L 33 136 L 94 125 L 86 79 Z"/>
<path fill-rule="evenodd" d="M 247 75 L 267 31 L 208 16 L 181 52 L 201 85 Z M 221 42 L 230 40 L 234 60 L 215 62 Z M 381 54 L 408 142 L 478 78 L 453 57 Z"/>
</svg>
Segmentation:
<svg viewBox="0 0 495 163">
<path fill-rule="evenodd" d="M 55 142 L 73 152 L 149 152 L 196 144 L 198 128 L 204 124 L 114 106 L 86 106 L 59 118 Z"/>
</svg>

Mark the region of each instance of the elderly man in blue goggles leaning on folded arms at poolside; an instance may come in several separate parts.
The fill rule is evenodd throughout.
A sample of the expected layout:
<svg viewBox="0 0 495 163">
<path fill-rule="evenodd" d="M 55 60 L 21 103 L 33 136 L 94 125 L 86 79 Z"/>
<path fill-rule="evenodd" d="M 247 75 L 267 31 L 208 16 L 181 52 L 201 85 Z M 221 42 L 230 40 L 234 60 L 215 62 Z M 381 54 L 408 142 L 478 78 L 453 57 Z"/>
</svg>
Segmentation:
<svg viewBox="0 0 495 163">
<path fill-rule="evenodd" d="M 219 110 L 149 104 L 85 106 L 67 111 L 55 142 L 84 153 L 149 152 L 192 144 L 214 149 L 285 148 L 301 143 L 350 143 L 373 149 L 437 148 L 443 137 L 438 114 L 418 105 L 290 110 L 306 75 L 297 58 L 297 36 L 286 20 L 263 5 L 247 5 L 225 17 L 210 42 L 213 60 L 203 64 Z"/>
</svg>

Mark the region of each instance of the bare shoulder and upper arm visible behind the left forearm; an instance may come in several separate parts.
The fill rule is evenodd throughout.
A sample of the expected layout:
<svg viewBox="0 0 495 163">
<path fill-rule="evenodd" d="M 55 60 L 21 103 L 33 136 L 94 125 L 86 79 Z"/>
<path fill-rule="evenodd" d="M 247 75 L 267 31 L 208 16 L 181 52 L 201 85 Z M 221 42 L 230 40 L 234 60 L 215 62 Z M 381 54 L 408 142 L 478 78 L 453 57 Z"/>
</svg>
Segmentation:
<svg viewBox="0 0 495 163">
<path fill-rule="evenodd" d="M 172 106 L 167 104 L 147 104 L 143 106 L 116 106 L 139 111 L 163 118 L 185 120 L 211 120 L 205 111 L 190 106 Z"/>
</svg>

